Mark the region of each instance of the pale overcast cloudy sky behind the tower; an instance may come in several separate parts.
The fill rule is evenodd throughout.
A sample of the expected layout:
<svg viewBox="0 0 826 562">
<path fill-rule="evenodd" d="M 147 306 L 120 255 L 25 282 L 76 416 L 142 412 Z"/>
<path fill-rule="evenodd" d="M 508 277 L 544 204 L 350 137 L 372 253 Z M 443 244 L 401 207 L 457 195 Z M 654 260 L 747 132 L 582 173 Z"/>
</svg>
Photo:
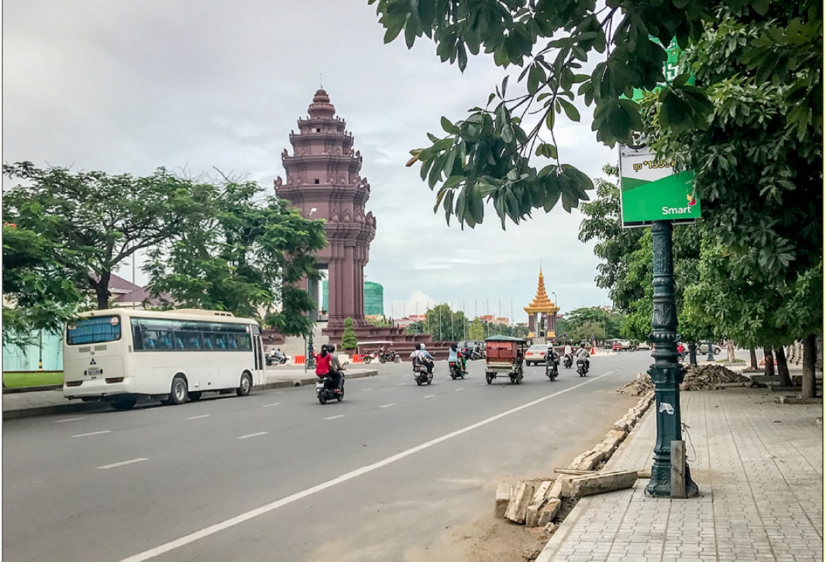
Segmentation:
<svg viewBox="0 0 826 562">
<path fill-rule="evenodd" d="M 406 168 L 411 149 L 483 106 L 511 71 L 471 57 L 464 73 L 423 38 L 384 45 L 367 0 L 5 0 L 2 157 L 74 170 L 197 176 L 220 169 L 272 193 L 282 150 L 322 84 L 363 156 L 377 217 L 364 272 L 384 288 L 385 314 L 440 302 L 468 317 L 527 321 L 539 268 L 561 313 L 610 304 L 594 278 L 582 215 L 538 209 L 506 231 L 490 204 L 460 229 L 434 214 L 434 193 Z M 518 69 L 517 71 L 518 72 Z M 515 77 L 514 77 L 515 78 Z M 511 79 L 511 83 L 514 80 Z M 512 88 L 512 87 L 511 87 Z M 617 154 L 596 141 L 591 112 L 558 119 L 563 162 L 592 179 Z M 545 165 L 537 162 L 538 168 Z M 593 193 L 593 192 L 591 192 Z M 146 282 L 137 260 L 135 280 Z M 131 264 L 119 272 L 131 279 Z"/>
</svg>

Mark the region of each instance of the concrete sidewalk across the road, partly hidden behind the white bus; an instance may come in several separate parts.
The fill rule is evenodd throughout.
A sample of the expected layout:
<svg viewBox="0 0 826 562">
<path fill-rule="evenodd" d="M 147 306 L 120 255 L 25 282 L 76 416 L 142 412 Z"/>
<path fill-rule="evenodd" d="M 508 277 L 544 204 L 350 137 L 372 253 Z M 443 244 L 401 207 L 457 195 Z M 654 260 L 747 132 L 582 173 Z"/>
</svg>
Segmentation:
<svg viewBox="0 0 826 562">
<path fill-rule="evenodd" d="M 350 367 L 351 365 L 348 365 L 348 369 L 344 371 L 344 376 L 347 379 L 373 377 L 378 374 L 377 369 L 352 369 Z M 314 371 L 307 370 L 305 372 L 302 366 L 279 366 L 274 370 L 268 369 L 267 383 L 263 384 L 263 386 L 254 387 L 253 392 L 268 390 L 270 388 L 284 388 L 315 383 L 316 374 Z M 4 393 L 2 395 L 2 419 L 4 420 L 16 417 L 88 412 L 89 410 L 100 410 L 111 407 L 108 402 L 67 400 L 63 396 L 62 388 L 26 393 Z"/>
</svg>

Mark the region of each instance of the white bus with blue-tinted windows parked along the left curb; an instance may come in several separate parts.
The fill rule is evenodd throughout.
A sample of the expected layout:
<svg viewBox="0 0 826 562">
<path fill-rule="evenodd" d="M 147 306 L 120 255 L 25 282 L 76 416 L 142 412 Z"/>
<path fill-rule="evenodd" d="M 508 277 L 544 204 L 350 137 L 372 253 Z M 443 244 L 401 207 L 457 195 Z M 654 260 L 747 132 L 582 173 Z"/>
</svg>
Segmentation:
<svg viewBox="0 0 826 562">
<path fill-rule="evenodd" d="M 138 398 L 180 404 L 265 382 L 261 328 L 230 312 L 192 308 L 83 312 L 66 325 L 63 395 L 118 410 Z"/>
</svg>

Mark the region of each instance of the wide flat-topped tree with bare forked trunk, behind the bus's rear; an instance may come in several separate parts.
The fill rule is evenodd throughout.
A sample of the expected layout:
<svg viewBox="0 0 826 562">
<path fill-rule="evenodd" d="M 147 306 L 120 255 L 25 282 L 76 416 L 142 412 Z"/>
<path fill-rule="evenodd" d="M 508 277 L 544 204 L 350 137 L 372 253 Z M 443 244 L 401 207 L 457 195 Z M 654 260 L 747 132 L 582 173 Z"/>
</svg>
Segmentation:
<svg viewBox="0 0 826 562">
<path fill-rule="evenodd" d="M 146 177 L 40 169 L 31 162 L 3 164 L 2 170 L 24 182 L 3 193 L 3 216 L 70 251 L 71 279 L 81 291 L 93 289 L 98 308 L 109 306 L 109 280 L 118 264 L 201 221 L 209 208 L 211 186 L 164 168 Z"/>
</svg>

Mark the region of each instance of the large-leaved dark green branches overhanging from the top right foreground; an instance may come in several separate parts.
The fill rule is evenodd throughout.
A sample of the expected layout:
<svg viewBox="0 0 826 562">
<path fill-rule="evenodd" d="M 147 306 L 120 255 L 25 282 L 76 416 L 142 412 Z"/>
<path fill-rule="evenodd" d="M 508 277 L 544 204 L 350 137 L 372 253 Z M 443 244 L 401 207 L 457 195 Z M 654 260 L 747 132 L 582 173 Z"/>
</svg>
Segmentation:
<svg viewBox="0 0 826 562">
<path fill-rule="evenodd" d="M 508 98 L 507 83 L 491 93 L 486 107 L 474 107 L 457 122 L 442 118 L 447 136 L 429 134 L 430 146 L 411 150 L 422 163 L 421 177 L 430 188 L 441 183 L 434 212 L 442 207 L 449 221 L 475 226 L 484 215 L 483 200 L 493 203 L 505 227 L 506 218 L 519 223 L 537 208 L 548 212 L 558 201 L 570 212 L 587 200 L 591 181 L 558 155 L 553 126 L 563 112 L 571 121 L 580 114 L 577 96 L 594 106 L 596 139 L 614 146 L 627 142 L 642 122 L 638 104 L 628 99 L 633 88 L 652 90 L 662 84 L 658 103 L 661 124 L 675 131 L 705 125 L 711 106 L 702 88 L 687 83 L 687 75 L 663 75 L 667 59 L 662 45 L 672 40 L 685 49 L 708 30 L 724 24 L 727 10 L 767 21 L 764 33 L 747 37 L 747 66 L 762 81 L 781 79 L 797 69 L 816 70 L 787 93 L 795 100 L 817 102 L 822 16 L 814 0 L 795 3 L 788 12 L 796 18 L 776 18 L 767 0 L 685 0 L 683 2 L 536 2 L 535 0 L 368 0 L 390 42 L 404 31 L 411 48 L 427 36 L 442 61 L 463 70 L 468 53 L 493 55 L 497 65 L 522 68 L 518 82 L 526 93 Z M 793 25 L 796 21 L 796 25 Z M 655 36 L 659 43 L 648 40 Z M 802 46 L 805 49 L 801 49 Z M 800 51 L 804 51 L 800 55 Z M 780 55 L 777 52 L 780 51 Z M 580 69 L 596 60 L 591 74 Z M 589 56 L 590 55 L 590 56 Z M 795 78 L 796 79 L 796 78 Z M 496 100 L 495 105 L 491 105 Z M 800 104 L 804 105 L 805 104 Z M 822 122 L 816 103 L 798 110 L 795 122 Z M 537 117 L 533 117 L 538 114 Z M 548 162 L 537 170 L 530 158 Z M 540 164 L 541 165 L 541 164 Z"/>
</svg>

